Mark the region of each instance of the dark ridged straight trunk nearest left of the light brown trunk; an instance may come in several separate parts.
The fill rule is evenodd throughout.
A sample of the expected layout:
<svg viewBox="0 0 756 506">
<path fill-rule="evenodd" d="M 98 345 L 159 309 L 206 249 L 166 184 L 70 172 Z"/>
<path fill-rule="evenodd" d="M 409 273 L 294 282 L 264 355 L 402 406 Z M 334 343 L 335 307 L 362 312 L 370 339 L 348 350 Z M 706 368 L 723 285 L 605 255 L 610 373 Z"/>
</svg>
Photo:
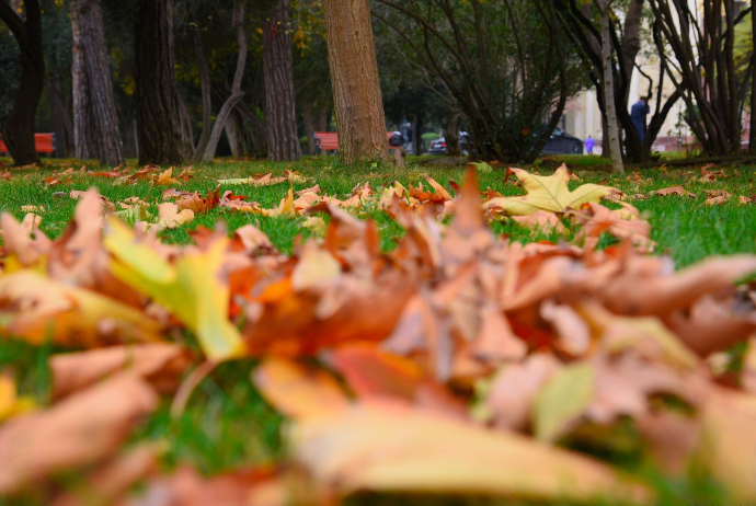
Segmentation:
<svg viewBox="0 0 756 506">
<path fill-rule="evenodd" d="M 265 80 L 265 135 L 267 158 L 274 161 L 299 160 L 294 99 L 289 0 L 277 0 L 263 31 Z"/>
</svg>

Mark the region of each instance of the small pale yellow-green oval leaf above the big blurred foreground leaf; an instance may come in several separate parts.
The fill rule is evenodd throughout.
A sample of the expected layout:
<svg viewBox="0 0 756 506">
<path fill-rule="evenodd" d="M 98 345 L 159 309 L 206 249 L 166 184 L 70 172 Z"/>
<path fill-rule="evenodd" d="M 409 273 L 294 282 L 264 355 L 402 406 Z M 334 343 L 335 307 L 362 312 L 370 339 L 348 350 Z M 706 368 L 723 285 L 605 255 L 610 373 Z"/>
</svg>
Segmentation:
<svg viewBox="0 0 756 506">
<path fill-rule="evenodd" d="M 591 403 L 595 380 L 588 363 L 568 366 L 549 379 L 534 403 L 536 437 L 552 441 L 562 436 Z"/>
</svg>

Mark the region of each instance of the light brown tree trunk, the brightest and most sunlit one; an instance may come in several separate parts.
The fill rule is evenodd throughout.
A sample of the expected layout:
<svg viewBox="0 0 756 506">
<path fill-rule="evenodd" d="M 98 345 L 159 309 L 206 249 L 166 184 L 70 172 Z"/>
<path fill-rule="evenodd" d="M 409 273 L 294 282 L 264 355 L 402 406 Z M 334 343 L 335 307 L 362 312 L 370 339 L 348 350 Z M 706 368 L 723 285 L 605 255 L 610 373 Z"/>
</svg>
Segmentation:
<svg viewBox="0 0 756 506">
<path fill-rule="evenodd" d="M 328 56 L 346 163 L 390 161 L 368 0 L 325 0 Z"/>
</svg>

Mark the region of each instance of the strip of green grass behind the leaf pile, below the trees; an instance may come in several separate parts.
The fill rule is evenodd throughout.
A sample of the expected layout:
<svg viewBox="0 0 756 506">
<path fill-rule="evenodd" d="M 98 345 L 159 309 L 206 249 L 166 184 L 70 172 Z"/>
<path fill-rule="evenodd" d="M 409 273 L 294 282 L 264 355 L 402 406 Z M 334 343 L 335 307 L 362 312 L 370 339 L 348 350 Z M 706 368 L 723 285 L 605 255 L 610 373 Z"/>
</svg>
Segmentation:
<svg viewBox="0 0 756 506">
<path fill-rule="evenodd" d="M 714 182 L 701 183 L 698 181 L 699 168 L 668 171 L 643 171 L 640 174 L 641 182 L 629 175 L 619 177 L 585 170 L 596 163 L 598 157 L 584 157 L 587 165 L 572 163 L 574 157 L 557 159 L 572 163 L 573 170 L 580 181 L 573 181 L 571 187 L 583 183 L 600 183 L 617 187 L 628 195 L 648 194 L 654 189 L 684 185 L 685 188 L 696 195 L 695 198 L 676 195 L 656 196 L 645 200 L 633 200 L 632 204 L 646 215 L 652 225 L 652 239 L 658 243 L 658 253 L 669 254 L 678 267 L 689 265 L 698 260 L 713 254 L 754 253 L 756 243 L 754 234 L 747 231 L 754 230 L 756 225 L 756 205 L 738 205 L 736 196 L 751 196 L 756 193 L 756 180 L 748 168 L 729 169 L 726 177 L 719 177 Z M 417 160 L 417 159 L 414 159 Z M 577 160 L 580 161 L 580 160 Z M 554 158 L 549 159 L 553 164 Z M 374 188 L 380 188 L 394 181 L 403 185 L 416 185 L 431 176 L 451 191 L 449 181 L 461 182 L 462 169 L 448 169 L 434 165 L 410 164 L 406 169 L 397 170 L 392 166 L 366 166 L 344 168 L 332 159 L 308 159 L 297 163 L 270 163 L 270 162 L 218 162 L 207 166 L 196 166 L 195 176 L 186 182 L 177 182 L 172 185 L 153 185 L 149 181 L 136 184 L 116 185 L 114 180 L 105 177 L 88 177 L 77 174 L 70 176 L 71 181 L 64 184 L 48 185 L 44 179 L 60 172 L 67 168 L 79 169 L 80 162 L 56 162 L 55 169 L 11 171 L 11 180 L 0 180 L 0 202 L 2 210 L 11 212 L 16 218 L 23 218 L 24 206 L 42 206 L 44 211 L 42 230 L 50 238 L 57 238 L 64 232 L 70 220 L 77 202 L 69 197 L 73 189 L 85 191 L 96 187 L 100 193 L 113 203 L 123 202 L 129 197 L 139 197 L 148 204 L 157 205 L 162 200 L 164 189 L 175 187 L 180 191 L 207 193 L 216 187 L 216 180 L 248 177 L 250 174 L 273 173 L 283 174 L 285 170 L 294 170 L 308 177 L 307 182 L 295 183 L 293 188 L 299 191 L 318 183 L 321 194 L 345 198 L 352 188 L 360 183 L 369 182 Z M 95 165 L 88 166 L 90 171 L 100 170 Z M 542 174 L 550 173 L 549 169 L 537 166 L 535 170 Z M 176 171 L 177 172 L 177 171 Z M 491 173 L 479 174 L 481 188 L 493 188 L 503 195 L 518 195 L 522 189 L 514 184 L 502 184 L 504 172 L 494 170 Z M 244 195 L 251 200 L 260 203 L 264 208 L 276 206 L 286 195 L 288 184 L 272 186 L 225 185 L 221 191 L 230 189 L 234 195 Z M 703 191 L 726 189 L 735 195 L 730 202 L 708 206 Z M 154 210 L 154 209 L 151 209 Z M 399 228 L 383 212 L 360 212 L 360 218 L 373 218 L 377 221 L 381 245 L 389 250 L 396 244 L 396 238 L 401 234 Z M 265 232 L 272 242 L 283 252 L 289 252 L 291 242 L 297 234 L 309 237 L 309 231 L 301 227 L 303 218 L 268 218 L 245 212 L 233 212 L 228 209 L 216 208 L 210 212 L 198 215 L 188 226 L 162 233 L 167 242 L 187 243 L 191 238 L 187 230 L 199 226 L 214 227 L 222 220 L 229 232 L 247 223 L 253 223 Z M 494 223 L 494 229 L 503 234 L 522 241 L 559 240 L 558 235 L 534 233 L 530 229 L 520 227 L 512 221 Z M 571 239 L 568 234 L 564 239 Z"/>
</svg>

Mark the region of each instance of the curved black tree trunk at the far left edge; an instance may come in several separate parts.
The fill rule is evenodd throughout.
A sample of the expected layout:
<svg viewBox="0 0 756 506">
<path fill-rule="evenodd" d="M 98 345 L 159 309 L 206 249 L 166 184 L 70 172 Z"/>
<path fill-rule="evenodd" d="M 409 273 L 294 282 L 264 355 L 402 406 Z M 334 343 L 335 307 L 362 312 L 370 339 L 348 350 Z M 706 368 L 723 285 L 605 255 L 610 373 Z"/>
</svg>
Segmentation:
<svg viewBox="0 0 756 506">
<path fill-rule="evenodd" d="M 11 114 L 2 128 L 2 139 L 16 165 L 38 164 L 34 143 L 35 118 L 45 85 L 45 54 L 42 47 L 42 11 L 37 0 L 24 1 L 25 20 L 0 1 L 0 20 L 21 49 L 21 83 Z"/>
</svg>

